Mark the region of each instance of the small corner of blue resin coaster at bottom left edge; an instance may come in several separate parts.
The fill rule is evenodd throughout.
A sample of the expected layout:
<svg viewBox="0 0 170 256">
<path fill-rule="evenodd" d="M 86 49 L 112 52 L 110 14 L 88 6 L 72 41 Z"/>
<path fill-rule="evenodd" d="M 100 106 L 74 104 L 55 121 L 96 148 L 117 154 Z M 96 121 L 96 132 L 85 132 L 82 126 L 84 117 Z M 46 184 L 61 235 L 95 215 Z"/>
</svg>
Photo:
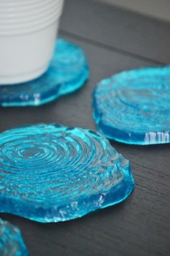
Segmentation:
<svg viewBox="0 0 170 256">
<path fill-rule="evenodd" d="M 0 255 L 27 256 L 28 252 L 22 235 L 16 226 L 0 218 Z"/>
</svg>

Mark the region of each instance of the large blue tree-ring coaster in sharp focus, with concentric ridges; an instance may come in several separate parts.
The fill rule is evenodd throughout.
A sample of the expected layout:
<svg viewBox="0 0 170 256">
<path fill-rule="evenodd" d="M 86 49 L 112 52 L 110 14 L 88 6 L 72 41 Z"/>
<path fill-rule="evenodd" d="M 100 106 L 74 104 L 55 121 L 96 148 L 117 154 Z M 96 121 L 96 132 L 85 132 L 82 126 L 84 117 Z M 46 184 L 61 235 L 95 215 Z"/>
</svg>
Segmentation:
<svg viewBox="0 0 170 256">
<path fill-rule="evenodd" d="M 66 221 L 125 200 L 130 163 L 89 129 L 37 124 L 0 135 L 0 211 Z"/>
</svg>

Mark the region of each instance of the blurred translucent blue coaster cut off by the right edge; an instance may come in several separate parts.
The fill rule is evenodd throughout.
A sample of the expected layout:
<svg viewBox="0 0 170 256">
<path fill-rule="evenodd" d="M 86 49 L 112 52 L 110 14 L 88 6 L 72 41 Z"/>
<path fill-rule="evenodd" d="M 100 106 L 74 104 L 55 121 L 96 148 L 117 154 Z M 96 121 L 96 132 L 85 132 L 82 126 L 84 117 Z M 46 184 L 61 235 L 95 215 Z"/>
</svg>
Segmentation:
<svg viewBox="0 0 170 256">
<path fill-rule="evenodd" d="M 106 137 L 128 144 L 170 142 L 170 66 L 121 72 L 99 82 L 94 120 Z"/>
</svg>

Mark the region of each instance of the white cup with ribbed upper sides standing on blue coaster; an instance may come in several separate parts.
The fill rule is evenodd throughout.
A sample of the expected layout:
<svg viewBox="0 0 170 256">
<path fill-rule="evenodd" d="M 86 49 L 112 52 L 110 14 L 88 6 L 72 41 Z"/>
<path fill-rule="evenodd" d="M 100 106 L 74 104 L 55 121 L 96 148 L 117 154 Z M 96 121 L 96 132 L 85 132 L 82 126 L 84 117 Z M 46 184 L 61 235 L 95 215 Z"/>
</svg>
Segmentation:
<svg viewBox="0 0 170 256">
<path fill-rule="evenodd" d="M 9 16 L 6 17 L 3 8 L 0 9 L 0 85 L 33 80 L 48 69 L 63 9 L 63 0 L 0 0 L 0 6 L 2 4 L 7 10 L 15 1 L 16 5 L 22 3 L 27 18 L 24 12 L 18 17 L 10 9 L 12 15 L 9 16 L 14 22 L 9 22 Z M 37 10 L 30 8 L 29 11 L 26 7 L 32 7 L 34 3 Z M 47 8 L 38 9 L 38 4 L 46 4 Z M 14 10 L 19 12 L 17 8 Z"/>
</svg>

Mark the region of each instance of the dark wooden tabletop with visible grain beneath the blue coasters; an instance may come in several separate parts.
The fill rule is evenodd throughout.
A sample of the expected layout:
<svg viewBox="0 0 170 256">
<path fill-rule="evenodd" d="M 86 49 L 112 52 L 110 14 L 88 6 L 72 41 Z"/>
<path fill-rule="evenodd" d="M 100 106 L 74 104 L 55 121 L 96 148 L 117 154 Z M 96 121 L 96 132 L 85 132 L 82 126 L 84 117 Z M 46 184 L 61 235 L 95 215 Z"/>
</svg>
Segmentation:
<svg viewBox="0 0 170 256">
<path fill-rule="evenodd" d="M 37 108 L 0 108 L 1 132 L 59 121 L 96 129 L 91 93 L 123 69 L 170 62 L 170 24 L 92 0 L 67 0 L 60 35 L 79 44 L 91 77 L 81 90 Z M 112 142 L 130 160 L 136 188 L 125 202 L 65 223 L 42 224 L 0 214 L 19 226 L 30 255 L 170 255 L 170 147 Z"/>
</svg>

